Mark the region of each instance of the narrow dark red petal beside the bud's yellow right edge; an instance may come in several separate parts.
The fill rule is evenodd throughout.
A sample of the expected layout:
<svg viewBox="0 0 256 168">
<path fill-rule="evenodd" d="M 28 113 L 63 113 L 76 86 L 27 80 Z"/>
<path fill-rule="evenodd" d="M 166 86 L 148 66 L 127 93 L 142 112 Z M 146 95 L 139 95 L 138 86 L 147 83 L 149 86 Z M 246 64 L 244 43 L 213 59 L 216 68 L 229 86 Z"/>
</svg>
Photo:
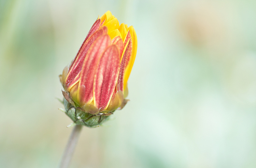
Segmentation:
<svg viewBox="0 0 256 168">
<path fill-rule="evenodd" d="M 118 80 L 117 80 L 117 91 L 119 91 L 119 90 L 124 91 L 125 66 L 126 66 L 127 60 L 131 56 L 130 50 L 131 50 L 131 38 L 130 38 L 129 42 L 127 43 L 127 45 L 125 46 L 125 51 L 123 53 L 122 60 L 120 63 L 120 71 L 119 71 Z"/>
</svg>

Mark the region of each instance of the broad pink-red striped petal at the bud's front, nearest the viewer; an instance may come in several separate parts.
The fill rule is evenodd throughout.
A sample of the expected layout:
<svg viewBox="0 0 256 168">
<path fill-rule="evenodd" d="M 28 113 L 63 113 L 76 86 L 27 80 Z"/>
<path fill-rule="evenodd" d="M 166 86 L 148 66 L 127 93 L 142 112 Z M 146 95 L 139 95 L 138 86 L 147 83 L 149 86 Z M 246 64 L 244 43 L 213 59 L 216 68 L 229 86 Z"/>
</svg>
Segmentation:
<svg viewBox="0 0 256 168">
<path fill-rule="evenodd" d="M 100 58 L 94 78 L 94 105 L 105 110 L 113 95 L 120 69 L 119 51 L 116 45 L 109 46 Z"/>
</svg>

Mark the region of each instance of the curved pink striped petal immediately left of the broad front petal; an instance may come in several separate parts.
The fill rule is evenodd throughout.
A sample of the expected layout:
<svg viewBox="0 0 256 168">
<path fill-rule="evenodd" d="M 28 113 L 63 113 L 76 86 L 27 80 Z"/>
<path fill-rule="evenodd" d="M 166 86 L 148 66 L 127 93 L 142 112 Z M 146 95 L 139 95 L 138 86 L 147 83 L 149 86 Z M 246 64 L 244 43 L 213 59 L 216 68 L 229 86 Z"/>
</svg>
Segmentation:
<svg viewBox="0 0 256 168">
<path fill-rule="evenodd" d="M 95 71 L 102 53 L 109 45 L 111 45 L 109 35 L 102 35 L 94 42 L 93 45 L 91 45 L 87 56 L 85 57 L 77 95 L 77 98 L 82 105 L 93 101 Z"/>
</svg>

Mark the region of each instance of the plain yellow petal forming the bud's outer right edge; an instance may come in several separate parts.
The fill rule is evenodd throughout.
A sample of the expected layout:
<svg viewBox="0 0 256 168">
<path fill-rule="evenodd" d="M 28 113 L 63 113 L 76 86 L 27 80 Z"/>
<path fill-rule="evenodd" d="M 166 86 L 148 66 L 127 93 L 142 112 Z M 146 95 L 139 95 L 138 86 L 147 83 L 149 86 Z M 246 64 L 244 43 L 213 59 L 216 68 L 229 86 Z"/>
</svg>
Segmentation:
<svg viewBox="0 0 256 168">
<path fill-rule="evenodd" d="M 130 57 L 129 63 L 128 63 L 126 69 L 125 69 L 125 74 L 124 74 L 124 89 L 126 88 L 127 81 L 128 81 L 129 76 L 130 76 L 133 63 L 134 63 L 134 61 L 135 61 L 135 57 L 136 57 L 136 53 L 137 53 L 137 46 L 138 46 L 137 35 L 136 35 L 136 32 L 135 32 L 133 26 L 130 26 L 130 27 L 128 28 L 128 31 L 130 31 L 130 34 L 131 34 L 132 53 L 131 53 L 131 57 Z"/>
</svg>

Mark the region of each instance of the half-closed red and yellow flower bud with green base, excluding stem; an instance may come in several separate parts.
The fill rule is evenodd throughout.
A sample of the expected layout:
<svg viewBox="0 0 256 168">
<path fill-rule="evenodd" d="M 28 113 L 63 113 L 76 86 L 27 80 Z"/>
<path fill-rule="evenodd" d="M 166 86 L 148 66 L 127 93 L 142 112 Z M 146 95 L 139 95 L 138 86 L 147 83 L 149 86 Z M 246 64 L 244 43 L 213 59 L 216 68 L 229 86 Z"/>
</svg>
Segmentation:
<svg viewBox="0 0 256 168">
<path fill-rule="evenodd" d="M 73 62 L 60 75 L 66 114 L 76 124 L 97 126 L 125 106 L 136 52 L 133 26 L 119 24 L 110 11 L 95 21 Z"/>
</svg>

